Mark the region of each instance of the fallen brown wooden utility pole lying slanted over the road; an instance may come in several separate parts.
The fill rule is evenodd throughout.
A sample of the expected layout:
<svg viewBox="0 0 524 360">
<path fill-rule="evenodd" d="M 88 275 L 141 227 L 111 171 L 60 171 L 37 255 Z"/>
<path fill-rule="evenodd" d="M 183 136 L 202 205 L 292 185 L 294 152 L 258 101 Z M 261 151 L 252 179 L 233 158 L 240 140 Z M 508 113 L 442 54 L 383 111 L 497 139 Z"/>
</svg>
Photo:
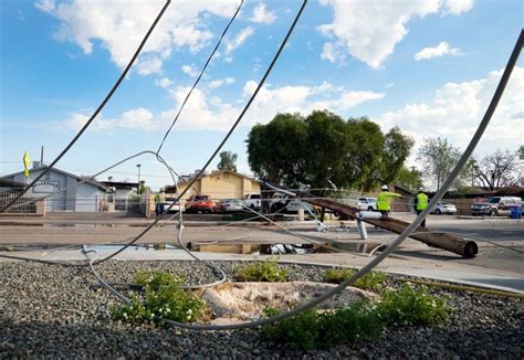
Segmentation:
<svg viewBox="0 0 524 360">
<path fill-rule="evenodd" d="M 313 205 L 322 207 L 325 209 L 329 209 L 333 211 L 338 212 L 339 214 L 344 214 L 354 220 L 361 220 L 368 224 L 389 230 L 394 233 L 400 234 L 402 231 L 409 225 L 408 222 L 398 220 L 395 218 L 389 216 L 387 220 L 376 220 L 376 219 L 359 219 L 358 212 L 359 210 L 334 200 L 329 199 L 322 199 L 315 198 L 310 193 L 306 192 L 293 192 L 281 187 L 265 183 L 270 189 L 275 191 L 281 191 L 283 193 L 294 195 L 296 198 L 302 199 L 302 201 L 311 203 Z M 416 232 L 411 234 L 409 237 L 415 240 L 421 241 L 425 244 L 443 248 L 450 251 L 452 253 L 462 255 L 463 257 L 474 257 L 479 253 L 479 246 L 474 241 L 469 241 L 462 239 L 461 236 L 448 233 L 434 233 L 426 227 L 417 227 Z"/>
</svg>

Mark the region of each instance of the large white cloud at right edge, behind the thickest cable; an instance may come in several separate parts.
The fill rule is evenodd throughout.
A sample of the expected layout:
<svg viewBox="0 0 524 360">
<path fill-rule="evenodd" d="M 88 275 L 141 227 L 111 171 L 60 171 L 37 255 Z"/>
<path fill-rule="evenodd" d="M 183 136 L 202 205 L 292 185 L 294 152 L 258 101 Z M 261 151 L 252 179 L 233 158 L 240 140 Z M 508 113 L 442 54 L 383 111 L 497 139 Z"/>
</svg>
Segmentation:
<svg viewBox="0 0 524 360">
<path fill-rule="evenodd" d="M 440 136 L 464 149 L 488 108 L 501 75 L 502 71 L 497 71 L 481 80 L 448 83 L 436 92 L 432 99 L 407 104 L 404 108 L 382 114 L 377 120 L 386 129 L 397 125 L 416 139 Z M 515 67 L 479 147 L 480 151 L 491 152 L 499 147 L 516 149 L 522 144 L 523 94 L 524 68 Z"/>
</svg>

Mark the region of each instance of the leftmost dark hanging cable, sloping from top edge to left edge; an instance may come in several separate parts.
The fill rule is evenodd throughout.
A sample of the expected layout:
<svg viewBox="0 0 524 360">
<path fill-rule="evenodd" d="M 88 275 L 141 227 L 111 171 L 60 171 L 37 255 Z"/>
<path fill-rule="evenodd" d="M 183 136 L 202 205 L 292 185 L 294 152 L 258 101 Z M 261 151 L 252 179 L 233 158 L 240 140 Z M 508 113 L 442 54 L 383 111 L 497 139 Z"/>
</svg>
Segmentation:
<svg viewBox="0 0 524 360">
<path fill-rule="evenodd" d="M 87 130 L 87 128 L 90 127 L 91 123 L 93 123 L 93 120 L 96 118 L 96 116 L 99 114 L 99 112 L 104 108 L 105 104 L 107 104 L 107 102 L 111 99 L 111 97 L 113 96 L 113 94 L 116 92 L 116 89 L 118 88 L 118 86 L 120 85 L 120 83 L 124 81 L 124 78 L 127 76 L 127 73 L 129 72 L 129 70 L 132 68 L 133 64 L 135 63 L 136 59 L 138 57 L 138 55 L 140 54 L 142 52 L 142 49 L 144 47 L 144 45 L 146 44 L 147 40 L 149 39 L 149 35 L 153 33 L 153 30 L 156 28 L 157 23 L 160 21 L 161 17 L 164 15 L 165 11 L 167 10 L 167 8 L 169 7 L 171 0 L 166 0 L 166 3 L 164 4 L 164 8 L 160 10 L 160 12 L 158 13 L 157 18 L 155 19 L 155 21 L 153 22 L 151 27 L 149 28 L 149 30 L 147 31 L 146 35 L 144 36 L 144 39 L 142 40 L 140 44 L 138 45 L 137 50 L 135 51 L 135 54 L 133 55 L 132 60 L 129 61 L 129 63 L 127 64 L 126 68 L 124 70 L 124 72 L 120 74 L 120 76 L 118 77 L 118 80 L 116 81 L 115 85 L 113 85 L 113 88 L 109 91 L 109 93 L 106 95 L 106 97 L 104 98 L 104 100 L 101 103 L 101 105 L 98 105 L 98 107 L 96 108 L 96 110 L 93 113 L 93 115 L 91 116 L 91 118 L 87 120 L 87 123 L 85 123 L 85 125 L 82 127 L 82 129 L 75 135 L 75 137 L 70 141 L 70 144 L 67 144 L 67 146 L 62 150 L 62 152 L 33 180 L 31 181 L 31 183 L 29 186 L 27 186 L 22 192 L 20 192 L 17 197 L 14 197 L 6 207 L 2 208 L 2 210 L 0 210 L 0 213 L 2 212 L 6 212 L 7 210 L 9 210 L 9 208 L 11 208 L 11 205 L 18 200 L 20 199 L 25 192 L 28 192 L 29 189 L 31 189 L 35 183 L 36 181 L 39 181 L 40 179 L 43 178 L 44 174 L 46 174 L 55 165 L 56 162 L 60 161 L 60 159 L 62 159 L 64 157 L 65 153 L 67 153 L 67 151 L 73 147 L 73 145 L 76 142 L 76 140 L 80 139 L 80 137 L 85 133 L 85 130 Z"/>
</svg>

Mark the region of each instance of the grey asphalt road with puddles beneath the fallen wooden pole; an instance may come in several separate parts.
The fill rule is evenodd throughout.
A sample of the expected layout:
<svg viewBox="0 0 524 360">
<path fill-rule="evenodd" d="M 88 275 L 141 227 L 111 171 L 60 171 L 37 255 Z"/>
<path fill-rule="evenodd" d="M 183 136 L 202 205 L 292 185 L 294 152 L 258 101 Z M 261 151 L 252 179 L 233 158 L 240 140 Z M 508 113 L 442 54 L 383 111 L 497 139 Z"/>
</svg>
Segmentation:
<svg viewBox="0 0 524 360">
<path fill-rule="evenodd" d="M 200 220 L 211 218 L 202 215 Z M 411 221 L 415 214 L 395 214 Z M 192 218 L 191 220 L 198 220 Z M 212 220 L 218 220 L 212 218 Z M 53 214 L 45 220 L 13 219 L 0 220 L 0 245 L 69 245 L 127 243 L 140 234 L 151 220 L 138 218 L 115 218 L 80 214 Z M 189 222 L 182 233 L 184 242 L 198 243 L 307 243 L 335 240 L 339 242 L 361 242 L 356 223 L 327 222 L 327 232 L 317 232 L 314 222 L 285 222 L 282 227 L 260 223 L 210 223 Z M 517 271 L 524 274 L 524 222 L 505 218 L 458 219 L 450 215 L 430 215 L 427 226 L 434 231 L 459 233 L 471 237 L 479 245 L 479 256 L 461 256 L 429 247 L 415 240 L 406 241 L 396 254 L 416 258 L 474 264 L 497 269 Z M 397 235 L 385 230 L 367 226 L 368 242 L 387 243 Z M 296 237 L 291 232 L 298 234 Z M 176 221 L 154 227 L 138 243 L 177 243 Z"/>
</svg>

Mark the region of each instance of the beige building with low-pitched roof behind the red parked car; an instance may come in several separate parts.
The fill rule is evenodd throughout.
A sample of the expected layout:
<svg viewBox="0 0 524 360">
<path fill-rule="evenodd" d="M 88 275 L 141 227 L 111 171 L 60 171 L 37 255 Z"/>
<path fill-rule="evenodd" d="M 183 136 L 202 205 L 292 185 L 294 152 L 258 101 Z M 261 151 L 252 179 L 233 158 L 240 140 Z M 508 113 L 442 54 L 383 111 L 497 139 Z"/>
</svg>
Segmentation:
<svg viewBox="0 0 524 360">
<path fill-rule="evenodd" d="M 179 182 L 179 191 L 184 191 L 189 182 Z M 174 187 L 167 189 L 167 192 L 175 192 Z M 195 194 L 210 195 L 212 200 L 240 199 L 248 193 L 260 193 L 259 180 L 234 171 L 221 170 L 198 179 L 184 199 Z"/>
</svg>

